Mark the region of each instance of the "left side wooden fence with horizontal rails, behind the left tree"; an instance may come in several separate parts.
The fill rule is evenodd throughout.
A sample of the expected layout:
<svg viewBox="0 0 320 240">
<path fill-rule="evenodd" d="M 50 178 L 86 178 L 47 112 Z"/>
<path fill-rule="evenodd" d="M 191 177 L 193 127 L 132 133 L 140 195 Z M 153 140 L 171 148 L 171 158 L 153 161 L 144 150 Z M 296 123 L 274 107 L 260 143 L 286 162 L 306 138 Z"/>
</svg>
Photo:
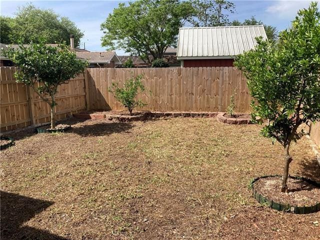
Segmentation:
<svg viewBox="0 0 320 240">
<path fill-rule="evenodd" d="M 16 83 L 15 67 L 0 67 L 0 126 L 1 131 L 11 130 L 50 120 L 50 107 L 22 83 Z M 69 83 L 58 87 L 56 119 L 86 109 L 84 76 L 80 74 Z"/>
</svg>

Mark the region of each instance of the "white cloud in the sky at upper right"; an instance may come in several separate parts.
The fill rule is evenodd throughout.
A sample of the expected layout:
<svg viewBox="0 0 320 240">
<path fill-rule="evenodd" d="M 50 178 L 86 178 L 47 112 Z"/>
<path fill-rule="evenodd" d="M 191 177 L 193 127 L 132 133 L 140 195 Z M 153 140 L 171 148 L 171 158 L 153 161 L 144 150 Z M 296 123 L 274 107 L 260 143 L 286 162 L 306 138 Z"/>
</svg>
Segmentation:
<svg viewBox="0 0 320 240">
<path fill-rule="evenodd" d="M 310 2 L 310 0 L 276 0 L 265 11 L 278 14 L 281 18 L 293 17 L 299 9 L 308 7 Z"/>
</svg>

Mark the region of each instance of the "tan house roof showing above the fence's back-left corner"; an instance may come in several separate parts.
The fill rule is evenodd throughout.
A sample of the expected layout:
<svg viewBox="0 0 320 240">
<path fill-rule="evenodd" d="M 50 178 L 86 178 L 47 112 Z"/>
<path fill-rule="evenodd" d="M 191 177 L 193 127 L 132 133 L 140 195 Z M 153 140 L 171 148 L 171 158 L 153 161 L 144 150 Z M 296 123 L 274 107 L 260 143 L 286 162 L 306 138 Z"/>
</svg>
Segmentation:
<svg viewBox="0 0 320 240">
<path fill-rule="evenodd" d="M 75 54 L 79 58 L 87 59 L 89 63 L 110 63 L 113 60 L 115 64 L 121 64 L 114 51 L 75 52 Z"/>
</svg>

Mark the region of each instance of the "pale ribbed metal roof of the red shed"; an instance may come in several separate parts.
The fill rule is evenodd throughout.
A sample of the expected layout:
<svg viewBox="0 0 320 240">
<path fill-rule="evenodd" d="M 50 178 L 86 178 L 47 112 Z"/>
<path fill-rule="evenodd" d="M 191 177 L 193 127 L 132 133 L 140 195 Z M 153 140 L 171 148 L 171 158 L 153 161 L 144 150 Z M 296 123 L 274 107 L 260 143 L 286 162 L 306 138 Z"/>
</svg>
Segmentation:
<svg viewBox="0 0 320 240">
<path fill-rule="evenodd" d="M 185 27 L 179 29 L 177 59 L 232 58 L 267 39 L 263 25 Z"/>
</svg>

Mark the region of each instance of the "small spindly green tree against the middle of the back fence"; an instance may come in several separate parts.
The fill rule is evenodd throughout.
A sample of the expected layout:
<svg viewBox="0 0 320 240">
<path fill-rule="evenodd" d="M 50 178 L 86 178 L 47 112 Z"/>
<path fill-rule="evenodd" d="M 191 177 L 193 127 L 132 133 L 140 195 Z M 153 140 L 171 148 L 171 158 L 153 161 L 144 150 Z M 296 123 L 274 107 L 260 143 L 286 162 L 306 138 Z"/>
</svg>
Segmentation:
<svg viewBox="0 0 320 240">
<path fill-rule="evenodd" d="M 111 87 L 108 88 L 115 99 L 128 109 L 130 115 L 132 115 L 134 107 L 146 105 L 142 100 L 136 99 L 137 94 L 144 91 L 144 85 L 141 79 L 142 75 L 137 75 L 135 78 L 131 77 L 127 79 L 123 87 L 119 87 L 118 82 L 112 82 Z"/>
</svg>

